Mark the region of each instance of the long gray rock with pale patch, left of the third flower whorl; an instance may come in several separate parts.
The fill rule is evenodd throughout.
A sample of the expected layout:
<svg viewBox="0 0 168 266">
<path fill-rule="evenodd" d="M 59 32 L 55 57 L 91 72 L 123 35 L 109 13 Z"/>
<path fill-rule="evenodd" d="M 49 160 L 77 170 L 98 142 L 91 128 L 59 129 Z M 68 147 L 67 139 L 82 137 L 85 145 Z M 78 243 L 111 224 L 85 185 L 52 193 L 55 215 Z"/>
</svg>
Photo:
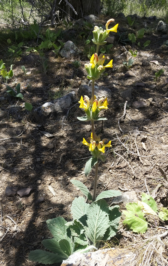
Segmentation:
<svg viewBox="0 0 168 266">
<path fill-rule="evenodd" d="M 74 101 L 75 92 L 70 92 L 61 98 L 37 107 L 33 115 L 39 123 L 44 123 L 49 117 L 55 119 L 58 114 L 67 113 Z"/>
</svg>

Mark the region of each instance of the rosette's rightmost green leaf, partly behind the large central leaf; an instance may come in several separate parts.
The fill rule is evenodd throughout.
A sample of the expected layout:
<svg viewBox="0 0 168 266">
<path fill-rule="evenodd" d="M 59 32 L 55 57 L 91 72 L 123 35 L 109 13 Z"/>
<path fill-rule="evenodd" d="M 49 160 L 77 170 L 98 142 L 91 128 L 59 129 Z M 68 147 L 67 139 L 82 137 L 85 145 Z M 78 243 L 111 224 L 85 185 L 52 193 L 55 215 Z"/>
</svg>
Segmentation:
<svg viewBox="0 0 168 266">
<path fill-rule="evenodd" d="M 119 212 L 118 208 L 119 206 L 109 207 L 110 227 L 107 228 L 106 233 L 103 237 L 103 241 L 110 240 L 110 238 L 116 235 L 116 232 L 118 231 L 118 226 L 121 217 L 121 213 Z"/>
</svg>

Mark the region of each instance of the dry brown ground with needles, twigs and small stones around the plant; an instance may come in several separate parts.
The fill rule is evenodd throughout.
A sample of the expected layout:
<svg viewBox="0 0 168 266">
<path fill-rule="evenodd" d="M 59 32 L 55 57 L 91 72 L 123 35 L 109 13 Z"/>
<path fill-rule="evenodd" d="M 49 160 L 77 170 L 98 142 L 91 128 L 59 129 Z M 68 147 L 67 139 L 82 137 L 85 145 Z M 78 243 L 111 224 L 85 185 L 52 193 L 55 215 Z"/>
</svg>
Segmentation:
<svg viewBox="0 0 168 266">
<path fill-rule="evenodd" d="M 106 19 L 101 20 L 105 25 Z M 129 26 L 126 19 L 115 19 L 120 32 L 123 28 L 136 31 L 145 27 L 144 23 L 147 30 L 140 47 L 123 45 L 114 34 L 114 46 L 109 52 L 113 68 L 108 68 L 108 75 L 95 84 L 97 95 L 108 96 L 108 109 L 102 111 L 108 120 L 103 122 L 103 132 L 102 124 L 96 122 L 95 131 L 112 140 L 105 163 L 99 164 L 99 192 L 115 189 L 138 199 L 146 192 L 160 208 L 168 206 L 168 50 L 163 45 L 168 35 L 155 32 L 158 21 L 136 19 Z M 77 36 L 74 31 L 65 31 L 65 42 L 69 36 Z M 146 40 L 151 43 L 142 48 Z M 128 71 L 122 61 L 130 58 L 129 49 L 138 54 Z M 93 192 L 94 171 L 88 178 L 84 175 L 90 154 L 81 143 L 83 137 L 90 136 L 91 127 L 77 120 L 83 115 L 80 96 L 89 93 L 91 86 L 84 69 L 88 59 L 82 53 L 62 58 L 49 51 L 45 56 L 47 73 L 38 55 L 24 55 L 13 62 L 14 76 L 8 83 L 13 88 L 21 84 L 24 100 L 10 97 L 6 87 L 0 85 L 0 264 L 4 266 L 42 265 L 28 261 L 28 254 L 42 248 L 41 241 L 51 237 L 47 219 L 62 216 L 71 220 L 71 203 L 81 195 L 71 184 L 72 178 Z M 74 60 L 80 60 L 81 66 L 74 66 Z M 22 65 L 28 70 L 26 75 Z M 155 84 L 153 78 L 160 69 L 164 73 Z M 72 96 L 70 100 L 57 100 L 66 94 Z M 47 108 L 46 103 L 51 101 L 57 107 L 59 101 L 60 109 Z M 33 105 L 32 113 L 24 109 L 24 102 Z M 68 106 L 63 105 L 67 102 Z M 125 201 L 118 204 L 122 212 Z M 138 235 L 122 220 L 124 215 L 116 237 L 102 243 L 102 248 L 119 246 L 126 253 L 133 252 L 135 260 L 129 265 L 167 265 L 167 222 L 149 218 L 151 226 Z"/>
</svg>

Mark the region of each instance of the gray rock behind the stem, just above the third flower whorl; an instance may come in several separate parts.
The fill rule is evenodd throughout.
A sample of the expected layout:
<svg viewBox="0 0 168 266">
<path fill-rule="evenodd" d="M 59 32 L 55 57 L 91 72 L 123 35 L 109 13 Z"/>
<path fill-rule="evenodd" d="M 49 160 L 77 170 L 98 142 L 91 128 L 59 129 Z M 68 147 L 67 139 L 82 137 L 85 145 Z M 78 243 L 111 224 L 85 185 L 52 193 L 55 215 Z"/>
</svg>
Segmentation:
<svg viewBox="0 0 168 266">
<path fill-rule="evenodd" d="M 78 94 L 81 96 L 87 95 L 89 98 L 92 96 L 92 87 L 87 85 L 81 85 L 78 90 Z M 103 86 L 95 86 L 96 98 L 101 98 L 102 96 L 111 96 L 111 90 Z"/>
</svg>

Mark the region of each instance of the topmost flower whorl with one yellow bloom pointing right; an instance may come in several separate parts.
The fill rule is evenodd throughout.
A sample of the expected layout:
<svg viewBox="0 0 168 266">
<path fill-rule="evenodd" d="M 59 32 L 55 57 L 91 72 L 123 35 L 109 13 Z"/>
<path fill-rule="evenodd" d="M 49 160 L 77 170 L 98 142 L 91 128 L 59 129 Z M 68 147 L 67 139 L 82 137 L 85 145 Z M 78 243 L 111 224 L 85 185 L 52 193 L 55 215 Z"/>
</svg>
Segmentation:
<svg viewBox="0 0 168 266">
<path fill-rule="evenodd" d="M 108 25 L 110 24 L 110 22 L 113 22 L 113 21 L 114 19 L 109 19 L 107 21 L 105 30 L 103 30 L 102 27 L 95 26 L 94 31 L 93 31 L 93 39 L 92 39 L 94 44 L 97 44 L 97 45 L 106 44 L 105 40 L 108 37 L 108 34 L 110 33 L 110 31 L 117 32 L 118 24 L 116 24 L 111 29 L 108 29 Z"/>
</svg>

